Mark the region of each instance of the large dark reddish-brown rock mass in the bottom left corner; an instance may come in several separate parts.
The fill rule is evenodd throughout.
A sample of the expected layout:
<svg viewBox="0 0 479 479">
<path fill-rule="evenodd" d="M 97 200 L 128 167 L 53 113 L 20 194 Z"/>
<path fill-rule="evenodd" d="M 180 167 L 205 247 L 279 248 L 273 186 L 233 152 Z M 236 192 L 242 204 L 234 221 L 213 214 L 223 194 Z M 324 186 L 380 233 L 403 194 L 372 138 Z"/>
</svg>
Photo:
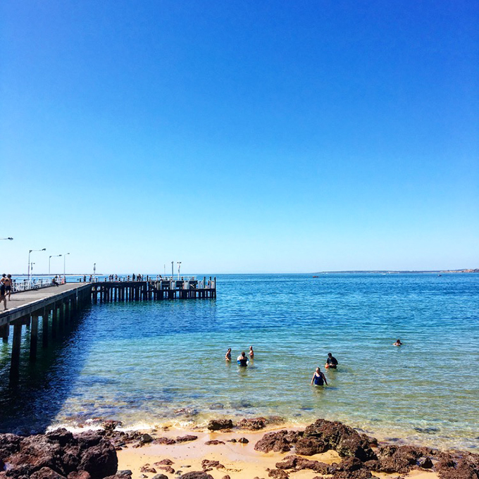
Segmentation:
<svg viewBox="0 0 479 479">
<path fill-rule="evenodd" d="M 29 437 L 2 434 L 0 454 L 8 465 L 6 477 L 15 479 L 103 479 L 116 475 L 118 468 L 113 444 L 92 432 L 73 435 L 58 429 Z"/>
</svg>

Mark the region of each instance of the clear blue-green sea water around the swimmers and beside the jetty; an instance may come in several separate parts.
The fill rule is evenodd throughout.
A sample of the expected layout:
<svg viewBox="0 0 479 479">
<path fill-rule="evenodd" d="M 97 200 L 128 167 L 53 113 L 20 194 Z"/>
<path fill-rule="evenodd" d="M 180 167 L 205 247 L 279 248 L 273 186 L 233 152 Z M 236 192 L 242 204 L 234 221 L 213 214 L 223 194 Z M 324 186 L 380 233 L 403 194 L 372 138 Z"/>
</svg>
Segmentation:
<svg viewBox="0 0 479 479">
<path fill-rule="evenodd" d="M 22 357 L 18 385 L 0 343 L 0 430 L 323 417 L 474 450 L 478 343 L 476 274 L 219 275 L 216 300 L 85 309 L 35 365 Z M 250 345 L 248 368 L 224 361 L 228 347 L 235 359 Z M 340 366 L 325 371 L 328 387 L 311 387 L 328 352 Z"/>
</svg>

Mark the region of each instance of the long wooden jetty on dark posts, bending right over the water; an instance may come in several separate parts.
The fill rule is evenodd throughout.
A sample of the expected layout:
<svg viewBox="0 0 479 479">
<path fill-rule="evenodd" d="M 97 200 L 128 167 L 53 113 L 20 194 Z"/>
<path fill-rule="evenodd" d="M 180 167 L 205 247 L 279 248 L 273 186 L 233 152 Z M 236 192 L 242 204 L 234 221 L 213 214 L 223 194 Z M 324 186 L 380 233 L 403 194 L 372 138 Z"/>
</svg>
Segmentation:
<svg viewBox="0 0 479 479">
<path fill-rule="evenodd" d="M 161 278 L 148 281 L 97 281 L 66 283 L 12 294 L 6 311 L 0 311 L 0 337 L 8 343 L 13 330 L 10 378 L 20 369 L 23 328 L 30 329 L 30 361 L 36 361 L 41 332 L 42 347 L 61 337 L 77 313 L 89 304 L 168 299 L 215 299 L 216 278 Z M 0 305 L 1 307 L 2 305 Z"/>
</svg>

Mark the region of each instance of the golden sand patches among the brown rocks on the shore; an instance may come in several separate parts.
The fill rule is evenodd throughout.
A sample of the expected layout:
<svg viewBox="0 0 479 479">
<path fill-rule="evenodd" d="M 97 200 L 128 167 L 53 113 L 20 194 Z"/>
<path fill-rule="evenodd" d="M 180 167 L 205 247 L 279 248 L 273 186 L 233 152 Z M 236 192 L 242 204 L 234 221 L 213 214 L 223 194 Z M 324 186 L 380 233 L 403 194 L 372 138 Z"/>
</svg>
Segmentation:
<svg viewBox="0 0 479 479">
<path fill-rule="evenodd" d="M 292 430 L 292 428 L 287 428 Z M 296 428 L 299 429 L 299 428 Z M 277 428 L 275 430 L 280 430 Z M 132 471 L 133 478 L 154 478 L 156 474 L 164 474 L 168 478 L 177 478 L 181 473 L 189 471 L 202 471 L 203 461 L 219 461 L 224 467 L 213 467 L 208 473 L 214 479 L 254 479 L 268 478 L 268 469 L 275 469 L 275 464 L 283 461 L 291 452 L 268 452 L 264 454 L 254 450 L 254 444 L 272 430 L 260 430 L 247 432 L 235 430 L 232 432 L 209 432 L 198 430 L 167 430 L 161 433 L 151 433 L 154 437 L 169 437 L 175 439 L 178 436 L 195 435 L 197 440 L 177 444 L 145 444 L 143 447 L 126 447 L 118 451 L 118 470 Z M 146 432 L 146 431 L 145 431 Z M 248 442 L 230 442 L 245 438 Z M 220 443 L 210 443 L 219 441 Z M 306 456 L 304 456 L 306 457 Z M 172 464 L 158 464 L 165 460 Z M 322 454 L 308 456 L 307 459 L 321 461 L 325 464 L 340 463 L 342 459 L 337 452 L 330 450 Z M 166 461 L 166 462 L 169 462 Z M 150 469 L 151 472 L 148 472 Z M 153 471 L 154 470 L 154 471 Z M 174 470 L 174 471 L 173 471 Z M 311 470 L 289 472 L 290 477 L 295 479 L 313 479 L 318 473 Z M 319 475 L 321 477 L 321 475 Z M 328 477 L 328 475 L 325 475 Z M 375 478 L 397 478 L 397 473 L 373 473 Z M 435 479 L 439 476 L 431 471 L 411 471 L 402 474 L 402 477 L 416 479 Z"/>
</svg>

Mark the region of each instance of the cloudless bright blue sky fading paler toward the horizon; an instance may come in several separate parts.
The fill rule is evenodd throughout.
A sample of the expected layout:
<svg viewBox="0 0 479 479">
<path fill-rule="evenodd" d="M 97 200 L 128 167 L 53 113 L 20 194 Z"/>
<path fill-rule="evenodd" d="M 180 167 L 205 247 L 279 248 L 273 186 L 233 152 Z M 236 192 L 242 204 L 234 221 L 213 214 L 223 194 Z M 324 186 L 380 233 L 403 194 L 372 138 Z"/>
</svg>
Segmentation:
<svg viewBox="0 0 479 479">
<path fill-rule="evenodd" d="M 43 247 L 37 271 L 479 267 L 478 24 L 470 0 L 1 2 L 0 272 Z"/>
</svg>

